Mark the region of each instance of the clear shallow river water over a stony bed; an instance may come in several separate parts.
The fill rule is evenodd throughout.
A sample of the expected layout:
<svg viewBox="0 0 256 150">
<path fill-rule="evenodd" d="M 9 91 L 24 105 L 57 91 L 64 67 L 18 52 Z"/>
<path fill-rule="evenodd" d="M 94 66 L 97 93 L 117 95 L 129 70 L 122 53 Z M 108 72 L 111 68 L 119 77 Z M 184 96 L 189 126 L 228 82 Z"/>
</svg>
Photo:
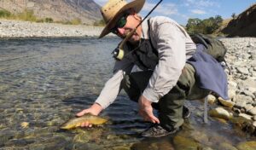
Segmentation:
<svg viewBox="0 0 256 150">
<path fill-rule="evenodd" d="M 101 114 L 111 124 L 59 130 L 96 100 L 112 74 L 110 53 L 117 43 L 116 38 L 1 40 L 1 149 L 178 149 L 180 142 L 219 149 L 220 143 L 255 141 L 230 123 L 210 118 L 203 124 L 201 101 L 187 101 L 192 115 L 177 135 L 143 139 L 138 135 L 150 124 L 143 122 L 137 104 L 124 93 Z"/>
</svg>

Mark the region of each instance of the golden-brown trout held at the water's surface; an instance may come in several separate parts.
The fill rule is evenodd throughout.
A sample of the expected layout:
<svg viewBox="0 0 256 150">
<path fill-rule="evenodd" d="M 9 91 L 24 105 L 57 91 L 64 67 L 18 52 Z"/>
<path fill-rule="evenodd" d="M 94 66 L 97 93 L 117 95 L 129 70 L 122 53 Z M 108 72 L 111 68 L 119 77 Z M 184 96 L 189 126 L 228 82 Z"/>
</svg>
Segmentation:
<svg viewBox="0 0 256 150">
<path fill-rule="evenodd" d="M 71 130 L 73 128 L 79 127 L 82 123 L 88 121 L 89 124 L 101 125 L 106 123 L 108 120 L 90 113 L 84 114 L 84 116 L 78 118 L 71 118 L 66 123 L 61 125 L 62 130 Z"/>
</svg>

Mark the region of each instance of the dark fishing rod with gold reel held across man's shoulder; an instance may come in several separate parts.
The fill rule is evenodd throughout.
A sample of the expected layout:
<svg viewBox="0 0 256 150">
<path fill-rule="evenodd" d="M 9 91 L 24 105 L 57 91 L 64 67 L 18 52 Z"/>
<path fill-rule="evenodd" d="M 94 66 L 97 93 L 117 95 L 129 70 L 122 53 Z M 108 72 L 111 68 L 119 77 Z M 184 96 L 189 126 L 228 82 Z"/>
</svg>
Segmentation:
<svg viewBox="0 0 256 150">
<path fill-rule="evenodd" d="M 131 32 L 129 32 L 129 34 L 127 34 L 127 36 L 125 36 L 125 38 L 123 39 L 123 41 L 119 44 L 119 47 L 118 47 L 117 49 L 114 49 L 114 50 L 113 50 L 112 53 L 113 53 L 113 57 L 114 57 L 115 59 L 121 61 L 121 60 L 125 57 L 125 50 L 124 50 L 124 45 L 125 45 L 125 43 L 127 42 L 127 40 L 128 40 L 129 38 L 131 38 L 131 36 L 134 34 L 134 32 L 137 31 L 137 27 L 140 26 L 140 25 L 142 25 L 143 21 L 146 20 L 146 18 L 148 18 L 148 15 L 151 14 L 151 13 L 154 11 L 154 9 L 156 9 L 157 6 L 158 6 L 162 1 L 163 1 L 163 0 L 160 0 L 158 3 L 156 3 L 156 5 L 154 6 L 154 8 L 151 9 L 151 10 L 148 12 L 148 14 L 143 18 L 143 20 L 142 20 L 134 29 L 132 29 Z M 137 48 L 135 48 L 135 49 L 137 49 Z M 135 49 L 132 49 L 131 52 L 133 52 Z M 128 53 L 128 54 L 131 54 L 131 52 Z M 128 55 L 128 54 L 126 54 L 126 55 Z"/>
</svg>

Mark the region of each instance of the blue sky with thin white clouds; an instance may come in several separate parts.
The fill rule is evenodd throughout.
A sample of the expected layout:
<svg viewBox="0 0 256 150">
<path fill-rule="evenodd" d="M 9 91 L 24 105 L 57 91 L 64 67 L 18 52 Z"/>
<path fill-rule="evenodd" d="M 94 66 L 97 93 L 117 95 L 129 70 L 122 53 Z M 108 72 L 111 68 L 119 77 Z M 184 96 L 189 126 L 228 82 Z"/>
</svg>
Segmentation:
<svg viewBox="0 0 256 150">
<path fill-rule="evenodd" d="M 108 0 L 94 1 L 101 6 L 108 2 Z M 131 0 L 126 1 L 131 2 Z M 146 0 L 140 14 L 147 15 L 158 2 L 159 0 Z M 241 14 L 254 3 L 256 0 L 163 0 L 150 16 L 167 16 L 185 26 L 189 18 L 204 20 L 220 15 L 223 19 L 228 19 L 234 13 Z"/>
</svg>

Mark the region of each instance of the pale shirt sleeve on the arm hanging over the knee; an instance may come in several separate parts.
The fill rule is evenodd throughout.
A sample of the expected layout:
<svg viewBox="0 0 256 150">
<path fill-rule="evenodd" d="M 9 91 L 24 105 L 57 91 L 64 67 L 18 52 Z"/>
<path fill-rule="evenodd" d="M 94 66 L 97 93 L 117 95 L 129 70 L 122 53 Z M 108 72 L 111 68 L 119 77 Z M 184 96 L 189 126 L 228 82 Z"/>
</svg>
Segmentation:
<svg viewBox="0 0 256 150">
<path fill-rule="evenodd" d="M 158 102 L 177 84 L 186 62 L 185 36 L 180 28 L 172 22 L 165 22 L 157 29 L 152 38 L 158 50 L 159 63 L 143 91 L 143 96 L 152 102 Z"/>
</svg>

